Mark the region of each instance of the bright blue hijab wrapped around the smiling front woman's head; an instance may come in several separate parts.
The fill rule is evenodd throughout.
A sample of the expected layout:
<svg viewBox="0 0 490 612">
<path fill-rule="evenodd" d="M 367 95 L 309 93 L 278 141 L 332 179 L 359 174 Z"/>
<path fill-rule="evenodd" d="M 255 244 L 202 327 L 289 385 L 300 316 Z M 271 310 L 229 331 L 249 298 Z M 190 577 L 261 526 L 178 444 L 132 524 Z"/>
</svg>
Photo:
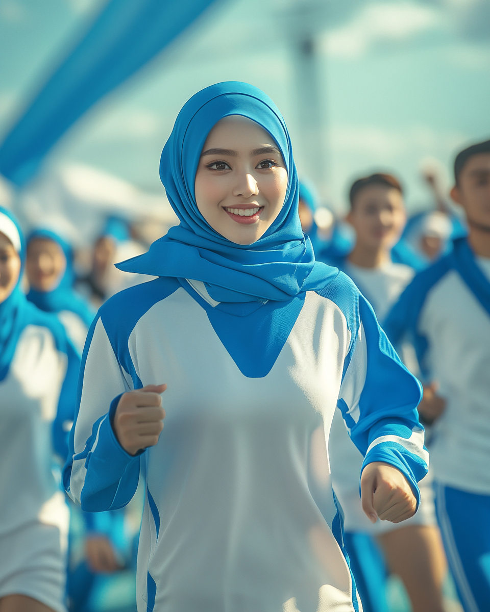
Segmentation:
<svg viewBox="0 0 490 612">
<path fill-rule="evenodd" d="M 198 211 L 195 173 L 206 138 L 222 118 L 241 115 L 268 132 L 288 173 L 284 205 L 266 233 L 241 245 L 217 233 Z M 218 302 L 287 302 L 322 289 L 337 270 L 315 261 L 311 240 L 298 217 L 299 185 L 291 140 L 281 113 L 260 89 L 247 83 L 217 83 L 193 95 L 178 114 L 160 160 L 160 178 L 180 224 L 148 253 L 117 267 L 126 272 L 190 278 L 205 283 Z"/>
</svg>

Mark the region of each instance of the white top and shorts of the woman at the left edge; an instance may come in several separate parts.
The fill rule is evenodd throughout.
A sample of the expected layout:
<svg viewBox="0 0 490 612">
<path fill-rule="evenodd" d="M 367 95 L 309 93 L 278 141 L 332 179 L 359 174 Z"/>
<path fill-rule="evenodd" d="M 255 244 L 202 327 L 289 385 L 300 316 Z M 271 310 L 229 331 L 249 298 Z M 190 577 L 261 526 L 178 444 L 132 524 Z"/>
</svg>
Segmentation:
<svg viewBox="0 0 490 612">
<path fill-rule="evenodd" d="M 0 382 L 0 598 L 28 595 L 64 612 L 69 510 L 53 475 L 51 429 L 66 355 L 26 327 Z"/>
</svg>

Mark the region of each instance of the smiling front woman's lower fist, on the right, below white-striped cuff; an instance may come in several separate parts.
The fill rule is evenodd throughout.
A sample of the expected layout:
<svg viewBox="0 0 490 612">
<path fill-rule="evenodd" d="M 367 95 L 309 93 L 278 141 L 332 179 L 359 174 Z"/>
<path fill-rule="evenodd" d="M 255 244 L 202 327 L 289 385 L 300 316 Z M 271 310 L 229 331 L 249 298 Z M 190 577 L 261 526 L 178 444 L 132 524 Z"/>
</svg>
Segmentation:
<svg viewBox="0 0 490 612">
<path fill-rule="evenodd" d="M 368 463 L 361 476 L 361 502 L 371 523 L 401 523 L 413 517 L 416 499 L 401 471 L 382 461 Z"/>
</svg>

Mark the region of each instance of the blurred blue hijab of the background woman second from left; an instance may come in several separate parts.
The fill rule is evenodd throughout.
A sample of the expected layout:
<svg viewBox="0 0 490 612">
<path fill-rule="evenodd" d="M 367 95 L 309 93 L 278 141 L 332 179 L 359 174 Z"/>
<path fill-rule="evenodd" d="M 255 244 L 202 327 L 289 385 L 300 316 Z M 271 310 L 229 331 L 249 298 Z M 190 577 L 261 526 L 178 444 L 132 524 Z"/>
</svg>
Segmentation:
<svg viewBox="0 0 490 612">
<path fill-rule="evenodd" d="M 28 244 L 34 238 L 43 238 L 56 242 L 66 258 L 66 269 L 55 289 L 52 291 L 37 291 L 37 289 L 31 288 L 27 299 L 45 312 L 58 313 L 62 310 L 69 310 L 69 312 L 78 315 L 87 327 L 90 327 L 94 313 L 92 313 L 85 300 L 78 296 L 73 289 L 75 272 L 72 247 L 51 230 L 34 230 L 29 235 Z"/>
</svg>

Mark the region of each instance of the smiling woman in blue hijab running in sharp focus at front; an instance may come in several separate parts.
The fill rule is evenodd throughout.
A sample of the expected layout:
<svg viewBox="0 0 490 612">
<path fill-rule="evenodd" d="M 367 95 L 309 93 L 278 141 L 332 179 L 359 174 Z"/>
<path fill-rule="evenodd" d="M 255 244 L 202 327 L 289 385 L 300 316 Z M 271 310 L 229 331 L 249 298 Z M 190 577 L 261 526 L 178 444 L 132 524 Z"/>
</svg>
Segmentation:
<svg viewBox="0 0 490 612">
<path fill-rule="evenodd" d="M 181 223 L 119 264 L 159 278 L 92 325 L 65 486 L 86 510 L 121 507 L 143 465 L 140 611 L 358 610 L 333 412 L 366 455 L 364 511 L 401 521 L 428 460 L 420 386 L 349 278 L 315 261 L 287 128 L 262 91 L 195 94 L 160 176 Z"/>
</svg>

